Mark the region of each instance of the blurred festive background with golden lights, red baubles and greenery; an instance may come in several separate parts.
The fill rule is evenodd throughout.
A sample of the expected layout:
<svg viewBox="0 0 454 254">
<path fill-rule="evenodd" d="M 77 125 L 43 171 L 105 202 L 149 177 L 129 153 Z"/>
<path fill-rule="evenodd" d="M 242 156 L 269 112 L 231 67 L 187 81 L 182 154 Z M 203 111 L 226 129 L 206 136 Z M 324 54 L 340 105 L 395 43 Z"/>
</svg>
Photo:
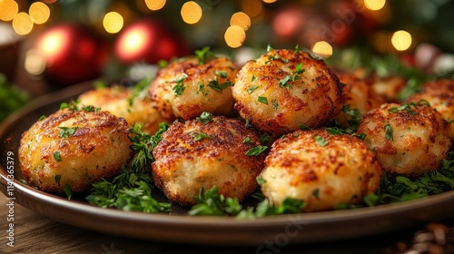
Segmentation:
<svg viewBox="0 0 454 254">
<path fill-rule="evenodd" d="M 239 65 L 299 45 L 344 71 L 452 77 L 453 14 L 448 0 L 0 0 L 0 121 L 44 93 L 138 81 L 205 46 Z"/>
</svg>

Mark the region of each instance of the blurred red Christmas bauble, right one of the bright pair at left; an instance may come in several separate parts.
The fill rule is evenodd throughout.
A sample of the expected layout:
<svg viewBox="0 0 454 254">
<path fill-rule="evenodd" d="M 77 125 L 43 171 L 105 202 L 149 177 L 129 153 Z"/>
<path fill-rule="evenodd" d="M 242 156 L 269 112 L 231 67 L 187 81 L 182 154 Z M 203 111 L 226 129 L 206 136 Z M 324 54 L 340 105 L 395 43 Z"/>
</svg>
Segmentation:
<svg viewBox="0 0 454 254">
<path fill-rule="evenodd" d="M 189 54 L 189 50 L 169 25 L 155 19 L 142 19 L 119 34 L 114 53 L 125 64 L 139 61 L 156 64 L 159 60 Z"/>
</svg>

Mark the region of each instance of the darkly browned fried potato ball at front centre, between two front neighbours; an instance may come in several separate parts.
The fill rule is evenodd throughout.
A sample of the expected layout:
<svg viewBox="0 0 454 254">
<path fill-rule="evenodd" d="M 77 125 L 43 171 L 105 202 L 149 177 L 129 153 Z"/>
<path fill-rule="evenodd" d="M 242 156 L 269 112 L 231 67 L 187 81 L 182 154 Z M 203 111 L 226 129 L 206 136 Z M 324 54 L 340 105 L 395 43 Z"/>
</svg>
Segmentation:
<svg viewBox="0 0 454 254">
<path fill-rule="evenodd" d="M 264 154 L 246 155 L 260 135 L 239 119 L 174 122 L 153 150 L 153 181 L 173 202 L 195 204 L 201 188 L 217 186 L 225 197 L 244 199 L 258 186 Z"/>
</svg>

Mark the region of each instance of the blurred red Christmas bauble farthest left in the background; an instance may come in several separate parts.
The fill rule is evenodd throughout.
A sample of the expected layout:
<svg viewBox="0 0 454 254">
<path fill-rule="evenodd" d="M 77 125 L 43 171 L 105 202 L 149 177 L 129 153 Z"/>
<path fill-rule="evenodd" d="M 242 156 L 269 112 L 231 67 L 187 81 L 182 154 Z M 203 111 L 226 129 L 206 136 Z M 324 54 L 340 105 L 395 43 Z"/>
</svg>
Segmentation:
<svg viewBox="0 0 454 254">
<path fill-rule="evenodd" d="M 44 78 L 67 86 L 99 77 L 107 51 L 104 42 L 82 24 L 57 24 L 35 44 L 45 62 Z"/>
</svg>

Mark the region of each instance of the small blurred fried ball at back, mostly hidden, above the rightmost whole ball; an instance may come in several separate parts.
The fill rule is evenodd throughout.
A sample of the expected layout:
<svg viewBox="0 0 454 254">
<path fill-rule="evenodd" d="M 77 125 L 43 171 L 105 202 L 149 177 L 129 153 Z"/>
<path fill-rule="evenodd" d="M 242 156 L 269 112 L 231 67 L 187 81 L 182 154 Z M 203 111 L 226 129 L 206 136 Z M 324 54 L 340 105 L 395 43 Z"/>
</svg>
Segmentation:
<svg viewBox="0 0 454 254">
<path fill-rule="evenodd" d="M 407 85 L 407 81 L 398 75 L 381 77 L 372 74 L 366 79 L 385 103 L 399 103 L 399 94 Z"/>
</svg>

